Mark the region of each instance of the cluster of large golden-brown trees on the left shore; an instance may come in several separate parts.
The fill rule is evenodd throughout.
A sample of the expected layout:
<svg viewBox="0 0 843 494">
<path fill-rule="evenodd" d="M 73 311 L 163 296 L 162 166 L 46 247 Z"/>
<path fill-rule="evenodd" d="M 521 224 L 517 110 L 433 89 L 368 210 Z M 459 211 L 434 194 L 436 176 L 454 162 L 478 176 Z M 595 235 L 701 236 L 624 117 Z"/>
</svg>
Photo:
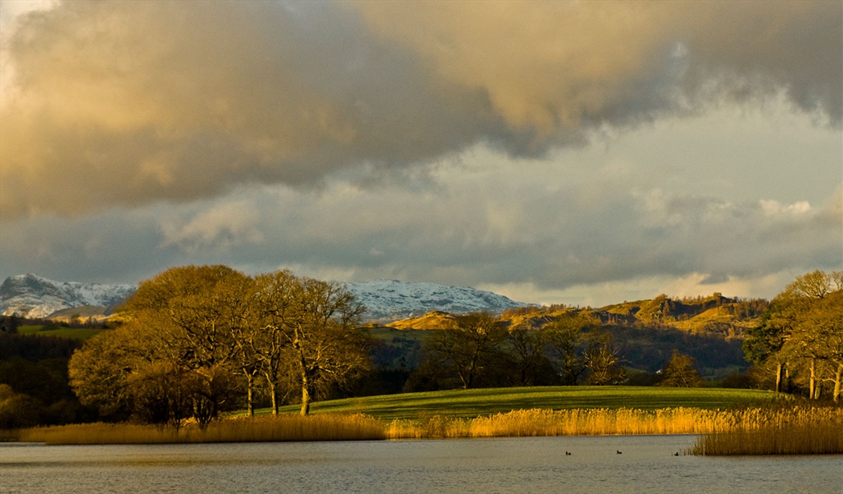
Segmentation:
<svg viewBox="0 0 843 494">
<path fill-rule="evenodd" d="M 336 283 L 289 271 L 246 276 L 227 266 L 181 266 L 142 282 L 121 323 L 73 354 L 69 373 L 84 404 L 139 420 L 201 425 L 265 384 L 314 395 L 368 366 L 363 308 Z"/>
</svg>

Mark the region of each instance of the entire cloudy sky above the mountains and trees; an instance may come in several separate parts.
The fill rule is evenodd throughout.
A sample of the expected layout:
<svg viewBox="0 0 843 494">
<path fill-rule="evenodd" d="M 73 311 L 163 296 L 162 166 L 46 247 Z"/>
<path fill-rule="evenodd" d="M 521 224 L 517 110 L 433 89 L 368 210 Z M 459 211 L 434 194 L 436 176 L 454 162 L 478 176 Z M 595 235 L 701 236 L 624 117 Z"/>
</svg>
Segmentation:
<svg viewBox="0 0 843 494">
<path fill-rule="evenodd" d="M 603 306 L 843 269 L 840 2 L 0 0 L 0 278 Z"/>
</svg>

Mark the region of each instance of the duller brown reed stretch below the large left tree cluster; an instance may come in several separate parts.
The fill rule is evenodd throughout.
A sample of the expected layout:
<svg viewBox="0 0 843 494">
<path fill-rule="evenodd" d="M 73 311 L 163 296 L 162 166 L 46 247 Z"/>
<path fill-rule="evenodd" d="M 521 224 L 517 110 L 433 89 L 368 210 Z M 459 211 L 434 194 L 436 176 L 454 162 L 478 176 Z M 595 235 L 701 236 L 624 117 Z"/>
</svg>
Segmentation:
<svg viewBox="0 0 843 494">
<path fill-rule="evenodd" d="M 212 422 L 202 429 L 132 424 L 76 424 L 35 427 L 19 440 L 47 444 L 251 443 L 276 441 L 362 441 L 384 439 L 384 425 L 362 415 L 260 416 Z"/>
</svg>

